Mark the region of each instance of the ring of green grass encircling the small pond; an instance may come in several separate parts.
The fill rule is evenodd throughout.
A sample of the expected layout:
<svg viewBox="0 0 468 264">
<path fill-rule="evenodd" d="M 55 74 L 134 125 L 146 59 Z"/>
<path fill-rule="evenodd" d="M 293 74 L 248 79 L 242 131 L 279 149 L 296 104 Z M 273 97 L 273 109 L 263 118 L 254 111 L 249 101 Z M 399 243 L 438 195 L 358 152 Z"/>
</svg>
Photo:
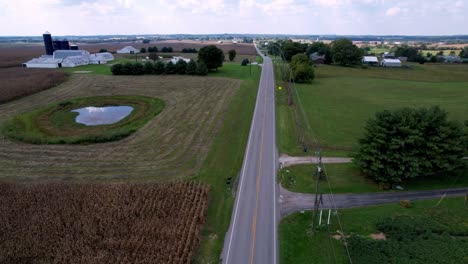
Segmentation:
<svg viewBox="0 0 468 264">
<path fill-rule="evenodd" d="M 130 106 L 130 115 L 115 124 L 86 126 L 72 112 L 88 106 Z M 164 108 L 164 102 L 144 96 L 97 96 L 54 103 L 13 117 L 2 127 L 5 136 L 33 144 L 90 144 L 119 140 L 136 132 Z"/>
</svg>

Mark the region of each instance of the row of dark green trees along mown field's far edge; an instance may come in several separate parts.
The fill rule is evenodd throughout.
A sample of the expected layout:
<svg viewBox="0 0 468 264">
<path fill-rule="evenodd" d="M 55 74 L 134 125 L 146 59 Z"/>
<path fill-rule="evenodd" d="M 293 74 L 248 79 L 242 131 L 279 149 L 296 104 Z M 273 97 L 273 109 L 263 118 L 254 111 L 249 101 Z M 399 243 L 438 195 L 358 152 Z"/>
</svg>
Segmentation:
<svg viewBox="0 0 468 264">
<path fill-rule="evenodd" d="M 204 76 L 208 74 L 208 68 L 203 62 L 185 62 L 179 60 L 177 63 L 164 63 L 162 61 L 156 61 L 152 63 L 150 61 L 142 64 L 140 62 L 127 62 L 114 64 L 111 67 L 111 72 L 114 75 L 143 75 L 143 74 L 188 74 L 188 75 L 200 75 Z"/>
</svg>

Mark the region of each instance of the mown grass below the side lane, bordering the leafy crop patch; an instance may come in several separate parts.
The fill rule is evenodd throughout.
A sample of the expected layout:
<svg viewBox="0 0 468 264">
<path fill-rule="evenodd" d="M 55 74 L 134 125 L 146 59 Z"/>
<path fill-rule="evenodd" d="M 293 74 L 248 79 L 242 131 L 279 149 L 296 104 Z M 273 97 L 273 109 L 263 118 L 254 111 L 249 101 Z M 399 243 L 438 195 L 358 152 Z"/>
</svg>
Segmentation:
<svg viewBox="0 0 468 264">
<path fill-rule="evenodd" d="M 358 234 L 369 237 L 377 233 L 376 223 L 391 216 L 418 216 L 436 220 L 450 228 L 468 232 L 468 210 L 465 198 L 445 198 L 438 207 L 439 199 L 415 201 L 413 208 L 387 204 L 355 209 L 339 210 L 343 231 L 346 235 Z M 295 213 L 279 224 L 280 261 L 283 264 L 328 264 L 347 263 L 344 246 L 330 236 L 340 230 L 336 217 L 329 228 L 321 227 L 315 235 L 308 234 L 312 213 Z M 336 261 L 334 258 L 336 255 Z M 410 261 L 410 260 L 408 260 Z M 409 263 L 409 262 L 408 262 Z"/>
</svg>

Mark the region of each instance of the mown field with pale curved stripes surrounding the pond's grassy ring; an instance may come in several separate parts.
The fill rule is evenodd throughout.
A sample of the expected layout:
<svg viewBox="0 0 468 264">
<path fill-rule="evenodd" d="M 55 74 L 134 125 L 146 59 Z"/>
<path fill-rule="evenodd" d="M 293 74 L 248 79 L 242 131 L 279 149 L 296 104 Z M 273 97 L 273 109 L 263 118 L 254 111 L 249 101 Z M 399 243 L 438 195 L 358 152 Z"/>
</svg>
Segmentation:
<svg viewBox="0 0 468 264">
<path fill-rule="evenodd" d="M 32 145 L 0 138 L 0 180 L 164 181 L 195 176 L 241 81 L 190 76 L 73 75 L 0 105 L 0 124 L 50 103 L 86 96 L 162 99 L 163 112 L 131 136 L 92 145 Z"/>
</svg>

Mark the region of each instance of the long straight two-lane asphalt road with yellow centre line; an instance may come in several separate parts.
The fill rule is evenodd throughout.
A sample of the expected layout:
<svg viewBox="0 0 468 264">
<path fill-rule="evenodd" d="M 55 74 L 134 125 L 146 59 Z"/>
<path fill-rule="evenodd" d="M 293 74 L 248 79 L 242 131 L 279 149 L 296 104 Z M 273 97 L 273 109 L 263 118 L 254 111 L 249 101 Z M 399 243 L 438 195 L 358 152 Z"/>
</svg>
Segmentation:
<svg viewBox="0 0 468 264">
<path fill-rule="evenodd" d="M 231 226 L 224 241 L 225 264 L 278 263 L 274 86 L 272 61 L 264 57 Z"/>
</svg>

